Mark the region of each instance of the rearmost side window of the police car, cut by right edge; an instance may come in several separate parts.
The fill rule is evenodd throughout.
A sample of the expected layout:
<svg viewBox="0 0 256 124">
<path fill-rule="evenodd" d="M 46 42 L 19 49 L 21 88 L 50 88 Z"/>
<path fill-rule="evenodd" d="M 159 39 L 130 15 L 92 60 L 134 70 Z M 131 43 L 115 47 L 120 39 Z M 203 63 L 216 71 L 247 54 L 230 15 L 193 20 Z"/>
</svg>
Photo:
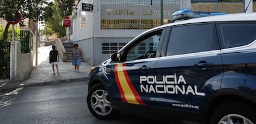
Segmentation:
<svg viewBox="0 0 256 124">
<path fill-rule="evenodd" d="M 247 45 L 256 39 L 256 23 L 218 23 L 222 48 Z"/>
</svg>

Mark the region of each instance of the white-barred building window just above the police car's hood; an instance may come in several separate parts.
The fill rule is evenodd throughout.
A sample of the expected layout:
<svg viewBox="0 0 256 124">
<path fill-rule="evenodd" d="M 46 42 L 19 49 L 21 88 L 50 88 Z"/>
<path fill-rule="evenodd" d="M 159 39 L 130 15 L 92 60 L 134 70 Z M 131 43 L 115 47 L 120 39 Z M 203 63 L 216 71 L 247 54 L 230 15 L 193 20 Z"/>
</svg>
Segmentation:
<svg viewBox="0 0 256 124">
<path fill-rule="evenodd" d="M 126 43 L 122 42 L 103 42 L 102 44 L 102 54 L 111 54 L 120 50 Z"/>
</svg>

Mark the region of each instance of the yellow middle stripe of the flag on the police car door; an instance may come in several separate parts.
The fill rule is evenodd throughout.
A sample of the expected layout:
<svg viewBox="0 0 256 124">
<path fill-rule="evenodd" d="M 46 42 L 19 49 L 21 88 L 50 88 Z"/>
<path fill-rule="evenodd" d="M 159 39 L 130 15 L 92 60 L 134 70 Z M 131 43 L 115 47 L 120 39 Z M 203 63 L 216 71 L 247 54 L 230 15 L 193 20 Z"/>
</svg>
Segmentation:
<svg viewBox="0 0 256 124">
<path fill-rule="evenodd" d="M 132 104 L 139 104 L 139 102 L 135 99 L 134 93 L 130 89 L 129 84 L 126 80 L 122 64 L 118 64 L 117 66 L 117 75 L 121 84 L 121 88 L 124 91 L 124 97 L 126 98 L 127 102 Z"/>
</svg>

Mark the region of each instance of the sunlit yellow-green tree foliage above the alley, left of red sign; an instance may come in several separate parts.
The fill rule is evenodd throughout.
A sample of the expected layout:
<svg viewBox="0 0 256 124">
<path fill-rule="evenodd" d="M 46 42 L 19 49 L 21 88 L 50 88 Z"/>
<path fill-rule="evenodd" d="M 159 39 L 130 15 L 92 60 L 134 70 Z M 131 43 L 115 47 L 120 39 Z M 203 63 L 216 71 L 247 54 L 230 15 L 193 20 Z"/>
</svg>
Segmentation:
<svg viewBox="0 0 256 124">
<path fill-rule="evenodd" d="M 46 7 L 43 13 L 46 27 L 51 28 L 52 31 L 58 34 L 58 37 L 66 36 L 66 29 L 58 24 L 62 21 L 63 17 L 72 14 L 74 3 L 74 0 L 55 0 Z"/>
</svg>

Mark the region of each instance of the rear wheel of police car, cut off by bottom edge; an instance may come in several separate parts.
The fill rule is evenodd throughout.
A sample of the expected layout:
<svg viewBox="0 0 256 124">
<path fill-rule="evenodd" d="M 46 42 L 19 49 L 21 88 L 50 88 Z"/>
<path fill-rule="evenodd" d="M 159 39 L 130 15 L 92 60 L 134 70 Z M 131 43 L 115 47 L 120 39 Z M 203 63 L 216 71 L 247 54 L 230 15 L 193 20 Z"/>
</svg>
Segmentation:
<svg viewBox="0 0 256 124">
<path fill-rule="evenodd" d="M 255 107 L 250 104 L 233 102 L 226 103 L 218 107 L 211 116 L 210 124 L 224 124 L 224 123 L 256 123 Z"/>
</svg>

